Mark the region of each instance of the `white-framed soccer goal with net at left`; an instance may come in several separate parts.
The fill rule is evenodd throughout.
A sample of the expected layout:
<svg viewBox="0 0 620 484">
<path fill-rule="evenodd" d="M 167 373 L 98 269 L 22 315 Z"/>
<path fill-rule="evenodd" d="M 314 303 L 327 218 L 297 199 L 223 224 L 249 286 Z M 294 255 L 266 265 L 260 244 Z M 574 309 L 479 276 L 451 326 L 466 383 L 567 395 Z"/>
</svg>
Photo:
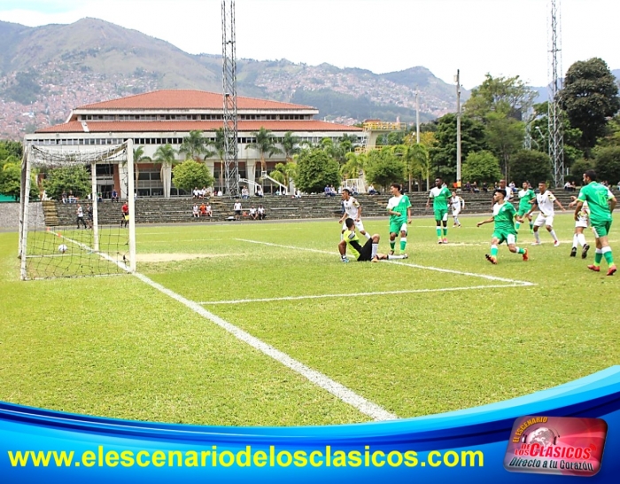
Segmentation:
<svg viewBox="0 0 620 484">
<path fill-rule="evenodd" d="M 101 190 L 97 174 L 112 181 L 112 191 Z M 26 146 L 19 207 L 22 280 L 136 270 L 134 190 L 131 140 L 105 148 Z"/>
</svg>

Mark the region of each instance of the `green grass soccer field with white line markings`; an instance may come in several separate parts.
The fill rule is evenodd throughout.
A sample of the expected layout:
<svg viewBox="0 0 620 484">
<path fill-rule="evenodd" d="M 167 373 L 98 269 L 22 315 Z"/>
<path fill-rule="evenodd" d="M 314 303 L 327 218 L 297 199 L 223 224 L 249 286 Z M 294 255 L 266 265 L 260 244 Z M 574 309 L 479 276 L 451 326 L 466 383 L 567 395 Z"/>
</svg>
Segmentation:
<svg viewBox="0 0 620 484">
<path fill-rule="evenodd" d="M 543 230 L 532 247 L 522 227 L 531 260 L 500 246 L 497 266 L 486 217 L 463 217 L 446 246 L 415 219 L 408 260 L 348 264 L 336 220 L 140 226 L 138 277 L 28 282 L 17 233 L 0 233 L 0 400 L 327 425 L 498 402 L 620 363 L 620 277 L 586 269 L 593 250 L 569 257 L 571 216 L 556 217 L 561 246 Z M 387 220 L 365 225 L 387 252 Z"/>
</svg>

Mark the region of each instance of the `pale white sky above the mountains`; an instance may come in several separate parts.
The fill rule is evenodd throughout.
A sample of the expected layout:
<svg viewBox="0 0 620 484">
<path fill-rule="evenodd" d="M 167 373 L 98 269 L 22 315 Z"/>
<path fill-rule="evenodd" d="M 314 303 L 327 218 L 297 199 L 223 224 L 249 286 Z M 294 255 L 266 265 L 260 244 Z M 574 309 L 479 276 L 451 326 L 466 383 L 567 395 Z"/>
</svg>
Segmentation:
<svg viewBox="0 0 620 484">
<path fill-rule="evenodd" d="M 562 73 L 577 60 L 620 68 L 620 0 L 560 4 Z M 545 86 L 549 0 L 236 0 L 237 59 L 288 59 L 376 74 L 424 66 L 472 88 L 485 74 Z M 0 0 L 28 27 L 84 17 L 133 28 L 192 54 L 221 55 L 221 0 Z"/>
</svg>

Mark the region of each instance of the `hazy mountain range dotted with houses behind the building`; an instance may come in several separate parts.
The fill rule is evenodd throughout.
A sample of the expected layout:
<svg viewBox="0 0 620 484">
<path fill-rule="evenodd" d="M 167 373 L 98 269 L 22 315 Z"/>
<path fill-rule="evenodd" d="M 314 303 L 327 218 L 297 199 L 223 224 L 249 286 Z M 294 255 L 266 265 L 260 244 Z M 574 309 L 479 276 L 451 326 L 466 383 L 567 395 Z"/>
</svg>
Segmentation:
<svg viewBox="0 0 620 484">
<path fill-rule="evenodd" d="M 25 27 L 0 21 L 0 137 L 66 120 L 71 109 L 158 89 L 221 91 L 221 56 L 192 55 L 104 20 Z M 454 111 L 454 86 L 425 67 L 375 74 L 286 59 L 237 59 L 241 96 L 314 105 L 328 121 L 415 121 Z M 467 99 L 464 90 L 462 98 Z"/>
</svg>

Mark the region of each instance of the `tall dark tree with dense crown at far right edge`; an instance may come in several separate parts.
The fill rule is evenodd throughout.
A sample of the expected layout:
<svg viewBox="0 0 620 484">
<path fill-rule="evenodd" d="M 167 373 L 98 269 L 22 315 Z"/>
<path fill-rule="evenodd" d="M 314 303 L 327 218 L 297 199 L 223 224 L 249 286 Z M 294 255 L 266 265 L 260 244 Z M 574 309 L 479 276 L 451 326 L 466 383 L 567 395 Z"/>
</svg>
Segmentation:
<svg viewBox="0 0 620 484">
<path fill-rule="evenodd" d="M 616 78 L 603 59 L 575 62 L 569 67 L 561 92 L 562 105 L 570 125 L 581 129 L 585 155 L 605 135 L 608 118 L 620 109 Z"/>
</svg>

